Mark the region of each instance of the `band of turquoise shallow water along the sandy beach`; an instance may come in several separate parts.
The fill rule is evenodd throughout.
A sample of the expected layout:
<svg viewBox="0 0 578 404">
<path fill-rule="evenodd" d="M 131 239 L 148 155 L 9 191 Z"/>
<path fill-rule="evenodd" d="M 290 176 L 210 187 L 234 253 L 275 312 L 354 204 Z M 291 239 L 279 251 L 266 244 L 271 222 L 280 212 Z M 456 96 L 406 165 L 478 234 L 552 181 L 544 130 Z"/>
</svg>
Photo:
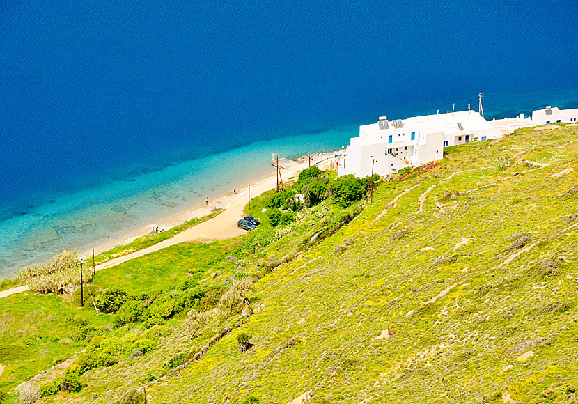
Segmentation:
<svg viewBox="0 0 578 404">
<path fill-rule="evenodd" d="M 357 127 L 344 127 L 259 141 L 56 198 L 3 221 L 0 277 L 64 248 L 82 251 L 134 229 L 144 231 L 148 224 L 201 203 L 206 196 L 213 199 L 271 172 L 272 153 L 296 158 L 338 150 L 355 130 Z"/>
</svg>

